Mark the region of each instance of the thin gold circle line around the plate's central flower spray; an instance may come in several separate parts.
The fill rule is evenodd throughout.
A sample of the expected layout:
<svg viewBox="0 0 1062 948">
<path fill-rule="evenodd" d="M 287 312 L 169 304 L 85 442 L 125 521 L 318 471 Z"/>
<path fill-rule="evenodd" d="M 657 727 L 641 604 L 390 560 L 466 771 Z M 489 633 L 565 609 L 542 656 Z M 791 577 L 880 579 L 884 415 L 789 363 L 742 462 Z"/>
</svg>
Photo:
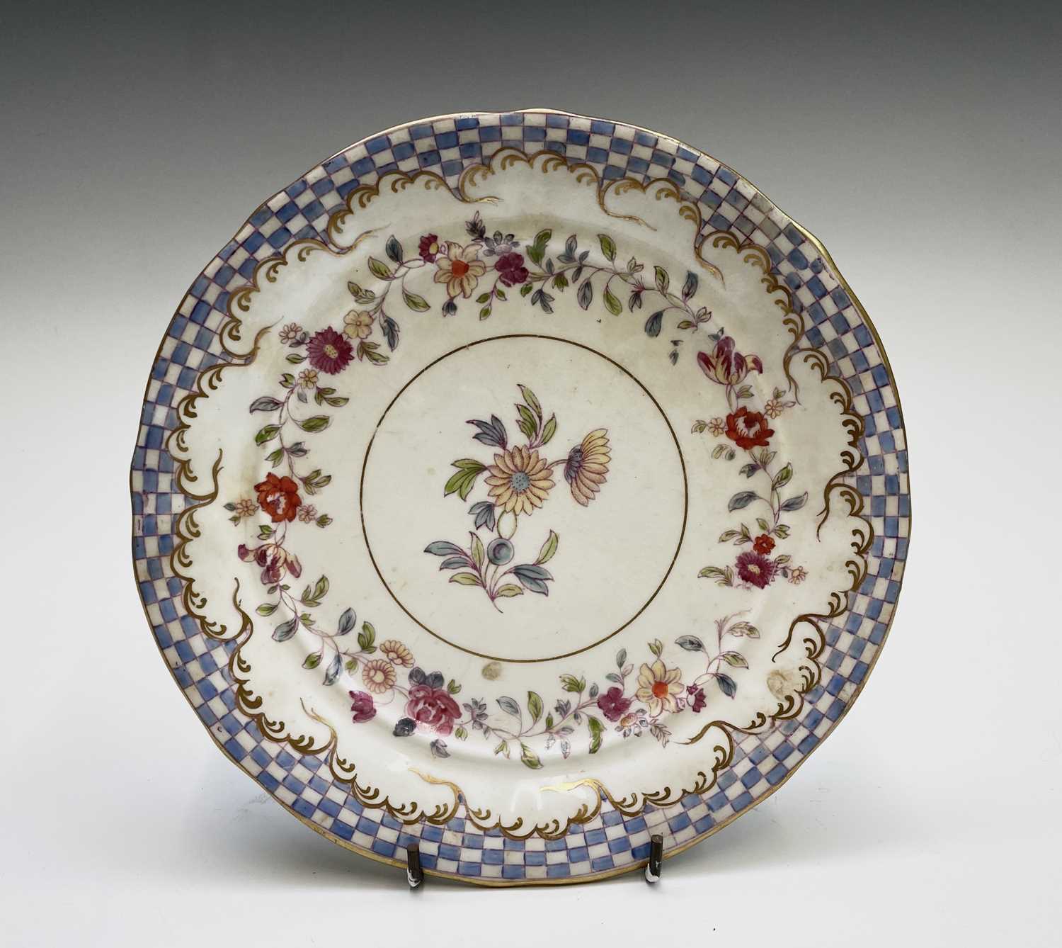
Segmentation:
<svg viewBox="0 0 1062 948">
<path fill-rule="evenodd" d="M 589 645 L 584 645 L 582 648 L 576 648 L 573 651 L 566 651 L 564 653 L 564 655 L 553 655 L 548 658 L 504 658 L 500 655 L 487 655 L 486 653 L 483 651 L 475 651 L 472 648 L 465 648 L 463 645 L 458 645 L 456 642 L 451 642 L 445 636 L 441 636 L 433 629 L 428 628 L 428 626 L 426 626 L 423 622 L 421 622 L 421 620 L 418 620 L 412 612 L 409 611 L 409 609 L 405 607 L 405 605 L 402 605 L 398 596 L 396 596 L 392 591 L 387 579 L 383 578 L 383 573 L 380 572 L 380 568 L 376 562 L 376 557 L 373 555 L 373 545 L 372 543 L 369 542 L 369 529 L 365 526 L 365 504 L 364 504 L 365 471 L 369 468 L 369 455 L 372 453 L 373 444 L 376 441 L 376 435 L 380 429 L 380 425 L 383 424 L 383 420 L 388 417 L 388 412 L 394 407 L 395 403 L 402 396 L 406 390 L 414 382 L 416 382 L 422 375 L 425 374 L 425 372 L 427 372 L 429 369 L 434 368 L 444 359 L 448 359 L 451 355 L 456 355 L 459 352 L 464 352 L 465 350 L 473 349 L 474 346 L 482 345 L 484 342 L 498 342 L 503 339 L 546 339 L 550 342 L 564 342 L 568 345 L 573 345 L 577 349 L 582 349 L 585 350 L 586 352 L 593 353 L 594 355 L 599 356 L 606 362 L 610 362 L 612 366 L 619 369 L 620 372 L 627 375 L 632 382 L 634 382 L 635 385 L 638 386 L 638 388 L 641 389 L 641 391 L 646 393 L 649 401 L 653 403 L 653 406 L 660 412 L 661 418 L 664 419 L 664 424 L 667 425 L 668 434 L 671 436 L 671 440 L 674 442 L 674 450 L 679 455 L 679 464 L 682 469 L 682 490 L 683 490 L 682 526 L 679 528 L 679 542 L 675 544 L 674 554 L 671 556 L 671 562 L 668 563 L 667 570 L 664 572 L 664 577 L 656 585 L 656 588 L 653 590 L 652 595 L 649 596 L 648 599 L 646 599 L 646 602 L 641 605 L 638 611 L 634 613 L 634 615 L 632 615 L 629 620 L 627 620 L 627 622 L 624 622 L 618 628 L 613 629 L 613 631 L 609 632 L 606 636 L 603 636 L 602 638 L 594 642 L 590 642 Z M 656 401 L 655 395 L 653 395 L 653 393 L 649 391 L 649 389 L 647 389 L 645 385 L 643 385 L 641 382 L 638 380 L 638 378 L 630 370 L 624 369 L 621 365 L 619 365 L 619 362 L 617 362 L 613 358 L 610 358 L 604 353 L 598 352 L 593 346 L 584 345 L 582 342 L 576 342 L 571 339 L 564 339 L 560 336 L 548 336 L 539 333 L 507 333 L 501 336 L 487 336 L 485 339 L 477 339 L 473 342 L 467 342 L 464 343 L 463 345 L 455 346 L 449 352 L 445 352 L 441 356 L 439 356 L 439 358 L 428 362 L 427 366 L 422 368 L 415 375 L 413 375 L 412 378 L 409 379 L 409 382 L 407 382 L 400 389 L 398 389 L 398 392 L 395 394 L 395 396 L 388 403 L 387 408 L 383 409 L 383 413 L 380 414 L 379 421 L 376 422 L 376 426 L 373 428 L 373 434 L 369 439 L 369 444 L 365 447 L 365 455 L 361 462 L 361 477 L 358 480 L 358 509 L 361 518 L 361 535 L 365 540 L 365 549 L 369 552 L 369 559 L 373 564 L 373 569 L 376 571 L 377 577 L 383 585 L 383 588 L 388 591 L 388 594 L 391 596 L 391 598 L 395 600 L 395 605 L 398 606 L 398 608 L 401 609 L 401 611 L 405 612 L 406 615 L 408 615 L 414 623 L 416 623 L 417 626 L 424 629 L 429 636 L 433 636 L 440 642 L 444 642 L 451 648 L 457 648 L 459 651 L 463 651 L 466 655 L 474 655 L 477 658 L 485 658 L 490 661 L 507 662 L 511 664 L 535 664 L 537 662 L 560 661 L 561 659 L 570 658 L 573 655 L 581 655 L 584 651 L 588 651 L 590 648 L 595 648 L 596 646 L 601 645 L 603 642 L 607 642 L 610 639 L 614 638 L 615 636 L 618 636 L 621 631 L 623 631 L 623 629 L 626 629 L 629 625 L 631 625 L 631 623 L 637 620 L 638 616 L 641 615 L 641 613 L 649 608 L 652 602 L 660 594 L 660 591 L 664 588 L 664 585 L 667 582 L 668 577 L 671 575 L 671 571 L 674 569 L 674 564 L 679 559 L 679 554 L 682 551 L 682 544 L 686 538 L 686 523 L 689 518 L 689 477 L 686 472 L 686 459 L 682 454 L 682 446 L 679 444 L 679 436 L 675 435 L 674 428 L 671 426 L 671 421 L 668 419 L 667 413 L 664 411 L 663 406 L 660 404 L 660 402 Z"/>
</svg>

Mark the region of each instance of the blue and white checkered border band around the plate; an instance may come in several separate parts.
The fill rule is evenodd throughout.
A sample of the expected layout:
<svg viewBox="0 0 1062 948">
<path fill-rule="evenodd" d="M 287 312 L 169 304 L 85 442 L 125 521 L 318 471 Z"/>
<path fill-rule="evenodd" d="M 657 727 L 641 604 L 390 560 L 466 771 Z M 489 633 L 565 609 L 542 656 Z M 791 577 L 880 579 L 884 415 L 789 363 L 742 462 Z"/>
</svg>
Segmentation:
<svg viewBox="0 0 1062 948">
<path fill-rule="evenodd" d="M 605 801 L 590 823 L 560 840 L 515 841 L 455 818 L 404 826 L 364 808 L 327 765 L 263 738 L 236 708 L 227 673 L 232 643 L 205 637 L 185 613 L 170 570 L 173 525 L 191 502 L 173 481 L 165 448 L 176 405 L 198 374 L 221 360 L 218 331 L 229 293 L 255 266 L 293 240 L 324 239 L 329 215 L 359 185 L 389 171 L 434 171 L 457 185 L 469 165 L 500 148 L 549 149 L 592 165 L 605 180 L 668 177 L 697 201 L 706 230 L 730 231 L 766 248 L 773 272 L 806 316 L 807 340 L 830 357 L 866 424 L 862 467 L 853 478 L 874 528 L 867 578 L 827 628 L 822 680 L 799 717 L 740 739 L 731 765 L 703 796 L 623 817 Z M 580 881 L 645 862 L 649 839 L 670 854 L 769 796 L 829 733 L 858 694 L 888 632 L 907 557 L 910 495 L 903 420 L 885 354 L 832 261 L 792 220 L 714 158 L 674 139 L 618 122 L 549 111 L 443 116 L 367 138 L 313 168 L 262 204 L 207 265 L 177 308 L 151 370 L 131 476 L 133 556 L 144 610 L 170 672 L 219 746 L 288 810 L 365 856 L 405 864 L 415 842 L 425 869 L 482 883 Z"/>
</svg>

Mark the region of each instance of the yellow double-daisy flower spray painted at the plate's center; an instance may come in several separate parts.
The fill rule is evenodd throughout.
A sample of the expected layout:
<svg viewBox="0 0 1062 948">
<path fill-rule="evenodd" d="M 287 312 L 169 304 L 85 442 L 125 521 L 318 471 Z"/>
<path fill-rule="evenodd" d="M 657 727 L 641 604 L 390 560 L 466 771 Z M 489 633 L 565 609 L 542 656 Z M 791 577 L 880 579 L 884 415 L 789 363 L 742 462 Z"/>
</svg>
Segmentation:
<svg viewBox="0 0 1062 948">
<path fill-rule="evenodd" d="M 500 612 L 498 599 L 524 594 L 524 591 L 549 595 L 553 574 L 546 569 L 560 544 L 560 536 L 550 530 L 533 562 L 516 562 L 513 539 L 520 519 L 530 518 L 550 496 L 555 484 L 554 469 L 564 469 L 564 479 L 572 498 L 587 506 L 597 496 L 607 479 L 609 461 L 612 459 L 606 428 L 595 428 L 567 455 L 550 461 L 542 452 L 556 434 L 556 414 L 546 420 L 542 403 L 526 385 L 519 386 L 523 401 L 515 404 L 516 426 L 526 439 L 525 444 L 512 444 L 504 422 L 497 414 L 489 421 L 470 419 L 477 428 L 473 439 L 489 447 L 497 448 L 493 463 L 476 458 L 453 461 L 457 473 L 446 481 L 445 496 L 457 494 L 467 501 L 476 489 L 480 475 L 487 486 L 487 500 L 478 501 L 468 508 L 474 529 L 468 534 L 467 546 L 449 540 L 429 543 L 425 553 L 442 557 L 440 570 L 455 570 L 450 582 L 459 586 L 479 587 Z M 485 530 L 484 545 L 480 530 Z M 516 581 L 513 581 L 516 580 Z"/>
</svg>

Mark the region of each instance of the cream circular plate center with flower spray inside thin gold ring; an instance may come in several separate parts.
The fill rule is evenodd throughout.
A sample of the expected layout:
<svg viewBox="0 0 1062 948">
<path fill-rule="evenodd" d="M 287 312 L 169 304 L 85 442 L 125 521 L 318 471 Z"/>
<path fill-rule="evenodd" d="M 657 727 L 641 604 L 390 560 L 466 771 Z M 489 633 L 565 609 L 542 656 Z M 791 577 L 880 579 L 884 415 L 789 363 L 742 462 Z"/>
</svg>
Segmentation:
<svg viewBox="0 0 1062 948">
<path fill-rule="evenodd" d="M 361 478 L 380 580 L 474 655 L 547 661 L 652 602 L 685 528 L 685 465 L 653 395 L 607 356 L 545 336 L 448 353 L 387 408 Z"/>
</svg>

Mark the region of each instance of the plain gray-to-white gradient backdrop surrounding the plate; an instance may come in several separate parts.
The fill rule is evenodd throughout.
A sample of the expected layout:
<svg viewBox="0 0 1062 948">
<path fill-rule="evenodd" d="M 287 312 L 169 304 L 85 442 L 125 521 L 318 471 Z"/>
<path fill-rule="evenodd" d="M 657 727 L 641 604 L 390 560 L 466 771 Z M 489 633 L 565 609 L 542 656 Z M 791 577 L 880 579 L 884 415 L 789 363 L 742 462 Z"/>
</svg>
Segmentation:
<svg viewBox="0 0 1062 948">
<path fill-rule="evenodd" d="M 0 941 L 1057 944 L 1058 4 L 379 6 L 0 7 Z M 900 383 L 914 543 L 856 710 L 662 885 L 410 896 L 186 707 L 126 469 L 260 201 L 396 122 L 539 105 L 703 148 L 825 241 Z"/>
</svg>

